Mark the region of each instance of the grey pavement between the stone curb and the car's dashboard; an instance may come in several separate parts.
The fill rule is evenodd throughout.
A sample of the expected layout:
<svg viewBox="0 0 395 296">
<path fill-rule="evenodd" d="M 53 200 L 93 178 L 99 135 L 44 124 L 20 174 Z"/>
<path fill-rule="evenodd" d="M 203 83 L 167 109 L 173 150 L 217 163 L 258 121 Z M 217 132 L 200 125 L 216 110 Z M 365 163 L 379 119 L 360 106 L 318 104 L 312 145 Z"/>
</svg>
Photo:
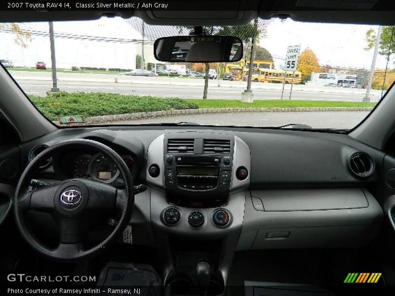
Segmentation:
<svg viewBox="0 0 395 296">
<path fill-rule="evenodd" d="M 163 122 L 194 122 L 236 126 L 280 126 L 288 123 L 302 123 L 313 128 L 350 129 L 356 126 L 369 112 L 246 112 L 205 113 L 156 118 L 144 118 L 111 122 L 114 124 L 144 124 Z"/>
</svg>

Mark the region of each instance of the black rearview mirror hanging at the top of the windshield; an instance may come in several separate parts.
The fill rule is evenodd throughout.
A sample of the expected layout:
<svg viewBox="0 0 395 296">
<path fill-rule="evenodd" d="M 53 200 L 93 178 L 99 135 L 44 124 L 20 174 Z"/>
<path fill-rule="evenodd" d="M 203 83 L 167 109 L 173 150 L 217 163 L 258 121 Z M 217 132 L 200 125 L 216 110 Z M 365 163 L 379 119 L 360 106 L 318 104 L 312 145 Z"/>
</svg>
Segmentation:
<svg viewBox="0 0 395 296">
<path fill-rule="evenodd" d="M 173 36 L 154 43 L 154 55 L 161 62 L 237 62 L 243 43 L 232 36 Z"/>
</svg>

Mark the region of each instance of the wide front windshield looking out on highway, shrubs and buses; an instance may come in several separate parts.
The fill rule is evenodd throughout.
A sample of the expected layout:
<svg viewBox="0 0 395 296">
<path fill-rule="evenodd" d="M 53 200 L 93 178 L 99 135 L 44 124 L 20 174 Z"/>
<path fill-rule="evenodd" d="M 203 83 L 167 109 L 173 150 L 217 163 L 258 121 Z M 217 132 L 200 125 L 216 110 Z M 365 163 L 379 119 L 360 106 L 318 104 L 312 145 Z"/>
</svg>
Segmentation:
<svg viewBox="0 0 395 296">
<path fill-rule="evenodd" d="M 203 27 L 207 34 L 239 37 L 238 62 L 155 59 L 157 38 L 191 31 L 134 17 L 0 24 L 0 62 L 43 115 L 63 126 L 351 129 L 395 78 L 395 27 L 256 19 Z M 174 54 L 185 57 L 187 50 Z"/>
</svg>

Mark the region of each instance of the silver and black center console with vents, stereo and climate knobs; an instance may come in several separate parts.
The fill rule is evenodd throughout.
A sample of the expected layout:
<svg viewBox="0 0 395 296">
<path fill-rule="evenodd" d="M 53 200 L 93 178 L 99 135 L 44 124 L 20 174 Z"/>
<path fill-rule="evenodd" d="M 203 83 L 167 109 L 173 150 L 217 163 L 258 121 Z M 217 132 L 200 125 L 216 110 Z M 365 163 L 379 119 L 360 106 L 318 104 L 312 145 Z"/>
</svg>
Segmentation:
<svg viewBox="0 0 395 296">
<path fill-rule="evenodd" d="M 194 279 L 197 264 L 207 262 L 211 278 L 220 276 L 221 286 L 226 286 L 241 233 L 250 167 L 249 147 L 234 135 L 183 131 L 163 134 L 151 143 L 146 178 L 151 225 L 164 250 L 160 257 L 165 285 L 180 272 Z"/>
</svg>

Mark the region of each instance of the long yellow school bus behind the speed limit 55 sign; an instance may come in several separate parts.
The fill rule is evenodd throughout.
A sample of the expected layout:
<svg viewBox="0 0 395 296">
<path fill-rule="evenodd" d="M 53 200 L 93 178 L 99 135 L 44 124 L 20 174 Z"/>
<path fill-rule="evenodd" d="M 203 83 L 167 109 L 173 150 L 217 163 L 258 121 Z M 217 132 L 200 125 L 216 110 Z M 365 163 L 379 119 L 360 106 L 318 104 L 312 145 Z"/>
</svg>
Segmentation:
<svg viewBox="0 0 395 296">
<path fill-rule="evenodd" d="M 285 75 L 285 83 L 292 83 L 293 76 L 293 84 L 300 84 L 302 81 L 302 73 L 299 71 L 289 72 L 283 70 L 274 70 L 274 69 L 252 69 L 251 81 L 254 82 L 272 82 L 272 83 L 283 83 Z M 248 76 L 248 71 L 246 71 L 244 75 L 244 79 Z"/>
</svg>

